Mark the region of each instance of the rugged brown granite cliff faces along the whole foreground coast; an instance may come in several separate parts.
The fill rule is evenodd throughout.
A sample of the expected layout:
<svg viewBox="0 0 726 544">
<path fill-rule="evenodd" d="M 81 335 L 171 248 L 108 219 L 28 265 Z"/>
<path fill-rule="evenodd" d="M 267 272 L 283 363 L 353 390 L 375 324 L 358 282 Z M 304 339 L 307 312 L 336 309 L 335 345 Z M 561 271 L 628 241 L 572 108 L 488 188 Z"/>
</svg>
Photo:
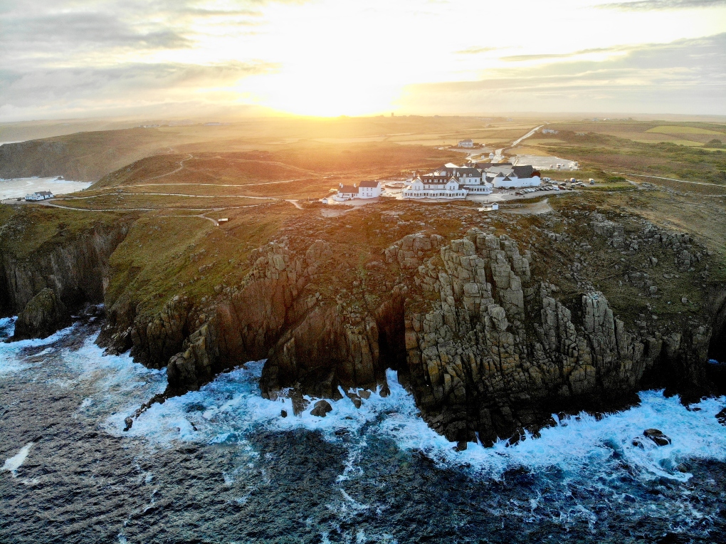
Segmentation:
<svg viewBox="0 0 726 544">
<path fill-rule="evenodd" d="M 295 410 L 306 394 L 356 405 L 365 390 L 386 394 L 393 368 L 425 420 L 460 447 L 518 439 L 562 410 L 617 410 L 648 387 L 685 400 L 715 391 L 707 360 L 723 349 L 726 290 L 711 285 L 703 311 L 683 296 L 682 318 L 656 315 L 669 283 L 706 285 L 709 256 L 688 235 L 574 211 L 515 240 L 516 220 L 498 221 L 404 235 L 357 264 L 330 240 L 282 235 L 251 253 L 241 283 L 201 301 L 179 294 L 149 313 L 132 296 L 106 300 L 98 343 L 166 367 L 166 396 L 266 359 L 263 394 L 290 395 Z M 4 256 L 7 307 L 25 309 L 19 330 L 46 333 L 64 306 L 99 301 L 123 235 L 94 230 L 27 259 Z"/>
</svg>

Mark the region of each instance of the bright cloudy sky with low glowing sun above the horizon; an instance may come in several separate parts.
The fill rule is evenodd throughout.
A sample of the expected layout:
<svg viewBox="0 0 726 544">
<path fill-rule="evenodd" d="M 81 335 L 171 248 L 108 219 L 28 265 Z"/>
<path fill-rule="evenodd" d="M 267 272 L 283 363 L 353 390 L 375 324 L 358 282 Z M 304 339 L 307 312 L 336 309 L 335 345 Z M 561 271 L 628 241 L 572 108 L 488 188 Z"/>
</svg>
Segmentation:
<svg viewBox="0 0 726 544">
<path fill-rule="evenodd" d="M 726 115 L 726 0 L 0 0 L 0 121 L 269 112 Z"/>
</svg>

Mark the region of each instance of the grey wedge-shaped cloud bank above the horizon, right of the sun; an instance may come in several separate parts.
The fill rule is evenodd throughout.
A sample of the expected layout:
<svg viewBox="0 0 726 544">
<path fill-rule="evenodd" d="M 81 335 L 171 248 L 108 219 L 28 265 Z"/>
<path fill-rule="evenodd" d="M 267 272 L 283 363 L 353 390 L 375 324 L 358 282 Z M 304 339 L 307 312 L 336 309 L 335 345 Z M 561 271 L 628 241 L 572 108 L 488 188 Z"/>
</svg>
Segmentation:
<svg viewBox="0 0 726 544">
<path fill-rule="evenodd" d="M 726 115 L 726 33 L 645 44 L 607 60 L 573 58 L 488 70 L 481 81 L 412 85 L 401 110 L 417 113 L 602 111 Z M 553 61 L 559 55 L 545 55 Z"/>
</svg>

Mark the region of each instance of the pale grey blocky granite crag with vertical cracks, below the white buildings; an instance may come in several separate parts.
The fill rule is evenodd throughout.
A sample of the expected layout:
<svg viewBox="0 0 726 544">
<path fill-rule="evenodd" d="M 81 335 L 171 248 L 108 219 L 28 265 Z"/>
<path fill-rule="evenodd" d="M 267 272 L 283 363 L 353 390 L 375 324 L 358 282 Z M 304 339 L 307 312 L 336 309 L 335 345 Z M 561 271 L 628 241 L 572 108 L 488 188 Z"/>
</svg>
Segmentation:
<svg viewBox="0 0 726 544">
<path fill-rule="evenodd" d="M 598 292 L 582 295 L 575 319 L 553 286 L 533 281 L 532 259 L 505 235 L 471 230 L 419 268 L 438 300 L 407 312 L 408 364 L 425 417 L 446 437 L 491 444 L 566 406 L 622 406 L 656 361 L 701 378 L 709 330 L 629 333 Z"/>
</svg>

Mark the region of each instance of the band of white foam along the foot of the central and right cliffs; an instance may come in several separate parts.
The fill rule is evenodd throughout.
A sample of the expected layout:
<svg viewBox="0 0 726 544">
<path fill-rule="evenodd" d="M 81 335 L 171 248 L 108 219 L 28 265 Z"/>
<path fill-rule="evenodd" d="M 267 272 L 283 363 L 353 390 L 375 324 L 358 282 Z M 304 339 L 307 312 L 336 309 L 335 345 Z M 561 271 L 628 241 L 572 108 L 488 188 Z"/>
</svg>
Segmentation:
<svg viewBox="0 0 726 544">
<path fill-rule="evenodd" d="M 367 447 L 366 437 L 374 434 L 393 439 L 402 450 L 424 452 L 440 466 L 468 467 L 468 470 L 499 478 L 511 469 L 524 467 L 541 471 L 556 467 L 566 474 L 589 470 L 592 466 L 614 468 L 627 463 L 643 476 L 664 476 L 685 480 L 690 477 L 678 470 L 688 458 L 726 460 L 726 433 L 714 415 L 726 405 L 726 399 L 707 399 L 698 411 L 689 411 L 677 397 L 666 398 L 662 391 L 644 391 L 640 406 L 607 415 L 596 421 L 582 413 L 560 421 L 541 431 L 539 439 L 527 436 L 509 446 L 504 440 L 486 448 L 470 443 L 464 452 L 437 434 L 420 418 L 413 397 L 399 384 L 396 373 L 387 373 L 391 394 L 381 397 L 375 392 L 362 399 L 356 408 L 348 397 L 329 400 L 333 410 L 325 418 L 310 414 L 316 399 L 306 412 L 293 416 L 290 399 L 271 401 L 261 397 L 258 379 L 264 362 L 252 362 L 220 375 L 200 391 L 154 405 L 134 423 L 129 433 L 160 442 L 176 439 L 200 442 L 237 442 L 245 444 L 245 434 L 260 427 L 279 431 L 308 429 L 319 431 L 325 439 L 341 442 L 335 431 L 348 431 L 348 458 L 338 480 L 360 474 L 357 463 Z M 189 411 L 188 407 L 195 407 Z M 285 410 L 287 418 L 280 417 Z M 123 429 L 123 417 L 115 416 L 116 431 Z M 656 428 L 672 438 L 665 447 L 643 438 L 643 431 Z M 195 430 L 196 429 L 196 430 Z M 633 445 L 640 437 L 642 446 Z"/>
</svg>

